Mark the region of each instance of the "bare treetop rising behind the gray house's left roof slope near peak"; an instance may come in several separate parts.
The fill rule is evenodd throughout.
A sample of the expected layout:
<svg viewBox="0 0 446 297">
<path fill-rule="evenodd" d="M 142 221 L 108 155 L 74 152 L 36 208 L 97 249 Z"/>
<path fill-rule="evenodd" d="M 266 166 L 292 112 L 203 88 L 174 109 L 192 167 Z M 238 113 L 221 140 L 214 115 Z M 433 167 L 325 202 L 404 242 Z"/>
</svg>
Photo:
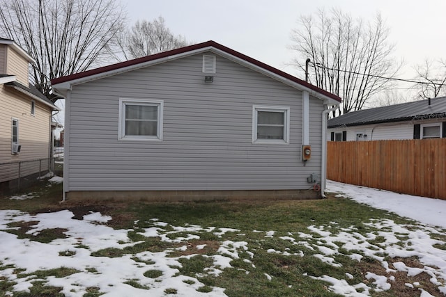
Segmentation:
<svg viewBox="0 0 446 297">
<path fill-rule="evenodd" d="M 164 18 L 158 17 L 152 22 L 137 21 L 131 29 L 123 29 L 116 45 L 121 53 L 114 53 L 114 57 L 121 61 L 122 57 L 128 60 L 185 47 L 188 42 L 182 35 L 171 33 Z"/>
</svg>

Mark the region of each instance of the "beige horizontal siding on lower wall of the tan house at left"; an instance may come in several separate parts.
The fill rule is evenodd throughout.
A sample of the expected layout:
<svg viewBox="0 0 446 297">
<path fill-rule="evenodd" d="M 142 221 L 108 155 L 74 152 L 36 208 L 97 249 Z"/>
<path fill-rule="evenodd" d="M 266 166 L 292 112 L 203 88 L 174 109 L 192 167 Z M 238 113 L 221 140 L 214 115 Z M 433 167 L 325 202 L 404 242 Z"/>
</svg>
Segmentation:
<svg viewBox="0 0 446 297">
<path fill-rule="evenodd" d="M 12 88 L 0 85 L 0 182 L 17 178 L 19 161 L 47 159 L 49 157 L 50 111 L 36 101 L 36 113 L 31 115 L 31 99 Z M 11 154 L 11 120 L 19 120 L 20 154 Z M 5 163 L 14 163 L 6 165 Z M 43 162 L 43 169 L 47 163 Z M 22 176 L 36 173 L 39 162 L 22 165 Z"/>
</svg>

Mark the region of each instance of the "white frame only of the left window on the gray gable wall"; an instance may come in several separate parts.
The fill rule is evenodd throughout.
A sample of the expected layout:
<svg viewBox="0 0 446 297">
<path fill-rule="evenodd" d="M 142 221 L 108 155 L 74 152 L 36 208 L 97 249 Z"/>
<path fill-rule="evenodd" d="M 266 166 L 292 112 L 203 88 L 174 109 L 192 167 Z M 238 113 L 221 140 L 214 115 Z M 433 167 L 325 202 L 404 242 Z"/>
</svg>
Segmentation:
<svg viewBox="0 0 446 297">
<path fill-rule="evenodd" d="M 125 135 L 125 106 L 126 105 L 148 105 L 157 106 L 157 135 L 156 136 L 135 136 Z M 120 98 L 119 99 L 119 115 L 118 115 L 118 140 L 119 141 L 162 141 L 162 123 L 164 101 L 152 99 L 134 99 L 134 98 Z"/>
</svg>

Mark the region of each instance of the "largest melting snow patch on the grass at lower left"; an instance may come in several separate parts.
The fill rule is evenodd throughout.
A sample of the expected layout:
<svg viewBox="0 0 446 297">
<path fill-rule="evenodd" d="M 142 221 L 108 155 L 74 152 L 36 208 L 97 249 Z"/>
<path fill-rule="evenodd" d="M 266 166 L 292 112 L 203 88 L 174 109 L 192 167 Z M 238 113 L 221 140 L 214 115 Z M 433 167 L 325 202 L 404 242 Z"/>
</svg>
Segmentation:
<svg viewBox="0 0 446 297">
<path fill-rule="evenodd" d="M 84 296 L 89 287 L 99 287 L 100 291 L 105 293 L 104 296 L 147 296 L 146 289 L 138 289 L 125 283 L 129 281 L 150 288 L 151 296 L 164 296 L 166 289 L 176 289 L 178 291 L 176 296 L 226 296 L 224 289 L 216 287 L 211 293 L 201 293 L 197 291 L 203 286 L 199 280 L 177 275 L 178 269 L 172 267 L 181 266 L 178 262 L 180 257 L 167 257 L 171 250 L 146 251 L 112 258 L 91 256 L 92 252 L 101 249 L 125 248 L 139 242 L 130 241 L 129 230 L 114 230 L 112 227 L 95 224 L 109 220 L 107 216 L 91 213 L 84 216 L 84 220 L 75 220 L 72 217 L 72 212 L 68 210 L 36 216 L 20 211 L 0 211 L 0 230 L 13 228 L 8 227 L 8 223 L 22 221 L 38 221 L 37 225 L 31 225 L 29 230 L 31 234 L 38 234 L 51 228 L 67 230 L 66 239 L 56 239 L 47 244 L 29 239 L 17 239 L 15 234 L 0 232 L 0 263 L 3 266 L 11 266 L 0 270 L 0 278 L 17 282 L 14 286 L 15 291 L 29 291 L 29 287 L 32 287 L 31 282 L 36 281 L 36 275 L 17 278 L 14 273 L 15 268 L 12 266 L 26 269 L 22 273 L 67 267 L 77 269 L 79 272 L 65 278 L 46 278 L 47 285 L 63 287 L 61 293 L 65 296 Z M 193 228 L 199 229 L 199 227 Z M 234 243 L 234 246 L 243 248 L 244 243 Z M 223 262 L 221 258 L 226 258 L 229 266 L 231 258 L 220 256 L 217 261 Z M 149 270 L 162 271 L 162 275 L 155 279 L 147 278 L 144 273 Z M 6 296 L 8 294 L 10 293 Z"/>
</svg>

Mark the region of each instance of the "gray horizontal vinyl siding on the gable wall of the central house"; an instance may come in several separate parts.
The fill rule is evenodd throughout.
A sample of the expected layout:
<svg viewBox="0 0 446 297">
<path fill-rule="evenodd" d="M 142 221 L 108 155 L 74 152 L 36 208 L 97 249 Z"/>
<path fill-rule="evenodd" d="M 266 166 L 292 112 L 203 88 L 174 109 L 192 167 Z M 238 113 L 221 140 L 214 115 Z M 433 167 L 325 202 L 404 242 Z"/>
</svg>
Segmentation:
<svg viewBox="0 0 446 297">
<path fill-rule="evenodd" d="M 321 170 L 321 100 L 310 97 L 304 167 L 302 92 L 220 56 L 216 69 L 204 83 L 200 54 L 74 86 L 68 191 L 310 188 L 307 176 Z M 118 141 L 120 98 L 163 100 L 163 141 Z M 289 145 L 252 143 L 253 105 L 290 107 Z"/>
</svg>

